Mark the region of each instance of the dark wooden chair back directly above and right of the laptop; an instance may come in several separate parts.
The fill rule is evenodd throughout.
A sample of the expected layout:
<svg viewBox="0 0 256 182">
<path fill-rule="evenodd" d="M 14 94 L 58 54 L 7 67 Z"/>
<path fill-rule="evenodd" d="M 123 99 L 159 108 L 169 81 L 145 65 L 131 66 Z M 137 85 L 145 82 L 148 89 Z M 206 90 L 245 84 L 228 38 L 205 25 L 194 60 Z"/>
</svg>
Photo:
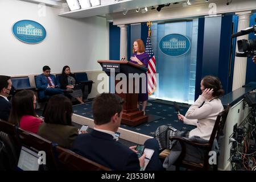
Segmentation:
<svg viewBox="0 0 256 182">
<path fill-rule="evenodd" d="M 46 152 L 46 166 L 44 166 L 44 170 L 52 171 L 57 169 L 57 162 L 54 152 L 54 143 L 40 137 L 39 135 L 30 133 L 20 128 L 18 129 L 18 135 L 22 146 L 31 148 L 31 150 L 34 151 Z"/>
</svg>

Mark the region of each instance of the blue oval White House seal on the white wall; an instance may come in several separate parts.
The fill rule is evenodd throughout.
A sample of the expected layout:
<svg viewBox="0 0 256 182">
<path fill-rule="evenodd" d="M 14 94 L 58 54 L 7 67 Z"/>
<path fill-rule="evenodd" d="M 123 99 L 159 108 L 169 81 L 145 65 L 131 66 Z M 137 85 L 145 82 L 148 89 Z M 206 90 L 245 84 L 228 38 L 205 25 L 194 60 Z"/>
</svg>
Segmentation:
<svg viewBox="0 0 256 182">
<path fill-rule="evenodd" d="M 24 43 L 37 44 L 46 38 L 46 29 L 38 22 L 20 20 L 13 25 L 13 35 Z"/>
</svg>

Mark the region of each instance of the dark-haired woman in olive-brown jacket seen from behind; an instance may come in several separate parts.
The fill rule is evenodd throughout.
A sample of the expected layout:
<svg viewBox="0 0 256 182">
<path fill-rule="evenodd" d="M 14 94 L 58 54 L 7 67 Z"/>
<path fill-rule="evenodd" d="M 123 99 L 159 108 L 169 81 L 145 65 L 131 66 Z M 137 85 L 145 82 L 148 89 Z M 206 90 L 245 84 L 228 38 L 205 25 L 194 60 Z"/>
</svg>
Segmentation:
<svg viewBox="0 0 256 182">
<path fill-rule="evenodd" d="M 40 125 L 38 135 L 61 147 L 71 148 L 79 135 L 79 129 L 72 125 L 72 114 L 72 103 L 67 97 L 61 94 L 52 96 L 46 106 L 44 123 Z"/>
</svg>

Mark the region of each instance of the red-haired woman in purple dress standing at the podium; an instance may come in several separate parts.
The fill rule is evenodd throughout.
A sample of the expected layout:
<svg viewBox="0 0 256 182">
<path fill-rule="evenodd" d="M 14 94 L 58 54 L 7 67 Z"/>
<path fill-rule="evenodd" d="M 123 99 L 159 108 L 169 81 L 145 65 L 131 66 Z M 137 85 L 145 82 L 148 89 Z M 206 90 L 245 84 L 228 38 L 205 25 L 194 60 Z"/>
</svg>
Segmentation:
<svg viewBox="0 0 256 182">
<path fill-rule="evenodd" d="M 133 55 L 130 57 L 131 63 L 134 64 L 139 64 L 143 65 L 144 67 L 147 68 L 148 65 L 148 60 L 150 59 L 149 55 L 144 52 L 145 51 L 145 46 L 144 43 L 141 39 L 137 39 L 133 43 Z M 146 93 L 142 93 L 142 85 L 146 86 Z M 145 109 L 147 105 L 147 100 L 148 100 L 148 93 L 147 93 L 147 76 L 146 76 L 146 84 L 141 84 L 139 86 L 139 96 L 138 96 L 138 109 L 139 109 L 139 102 L 143 103 L 142 106 L 142 111 L 144 112 L 145 115 Z"/>
</svg>

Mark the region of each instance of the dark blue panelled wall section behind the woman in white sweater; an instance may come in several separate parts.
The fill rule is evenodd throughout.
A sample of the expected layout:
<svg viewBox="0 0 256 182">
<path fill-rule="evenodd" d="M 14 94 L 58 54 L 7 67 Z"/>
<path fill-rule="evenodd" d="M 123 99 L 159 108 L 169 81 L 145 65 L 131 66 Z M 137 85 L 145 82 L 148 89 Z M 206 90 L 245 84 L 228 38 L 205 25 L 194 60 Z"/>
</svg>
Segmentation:
<svg viewBox="0 0 256 182">
<path fill-rule="evenodd" d="M 232 15 L 199 18 L 195 100 L 201 94 L 201 78 L 206 75 L 220 78 L 226 93 L 232 88 L 232 18 Z"/>
</svg>

